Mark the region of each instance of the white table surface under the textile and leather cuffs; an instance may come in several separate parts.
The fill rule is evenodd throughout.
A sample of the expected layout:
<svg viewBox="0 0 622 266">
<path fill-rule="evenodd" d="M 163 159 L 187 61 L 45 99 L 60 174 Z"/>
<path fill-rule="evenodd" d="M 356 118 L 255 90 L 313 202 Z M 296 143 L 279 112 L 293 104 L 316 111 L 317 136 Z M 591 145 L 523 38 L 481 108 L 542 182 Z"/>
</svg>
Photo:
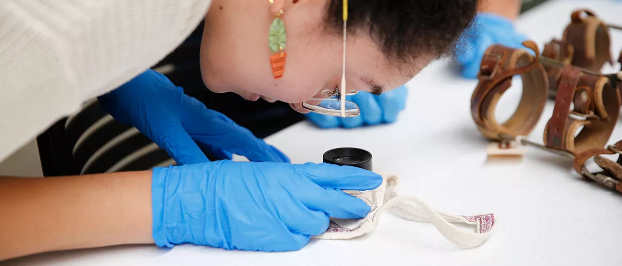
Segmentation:
<svg viewBox="0 0 622 266">
<path fill-rule="evenodd" d="M 622 22 L 622 2 L 559 0 L 524 14 L 518 29 L 542 48 L 561 36 L 573 9 L 585 6 L 605 21 Z M 622 32 L 612 32 L 612 40 L 617 60 Z M 514 111 L 519 84 L 502 98 L 500 116 Z M 394 124 L 322 130 L 300 122 L 267 140 L 294 163 L 321 162 L 335 147 L 369 150 L 375 170 L 401 177 L 402 195 L 447 213 L 496 214 L 495 232 L 481 247 L 460 249 L 431 224 L 383 214 L 366 236 L 312 241 L 297 252 L 142 245 L 52 252 L 6 265 L 622 265 L 621 195 L 580 180 L 569 160 L 536 149 L 519 163 L 485 163 L 487 142 L 469 109 L 476 81 L 459 78 L 446 64 L 433 63 L 408 85 L 407 109 Z M 529 139 L 542 142 L 552 107 Z M 622 139 L 620 127 L 611 143 Z"/>
</svg>

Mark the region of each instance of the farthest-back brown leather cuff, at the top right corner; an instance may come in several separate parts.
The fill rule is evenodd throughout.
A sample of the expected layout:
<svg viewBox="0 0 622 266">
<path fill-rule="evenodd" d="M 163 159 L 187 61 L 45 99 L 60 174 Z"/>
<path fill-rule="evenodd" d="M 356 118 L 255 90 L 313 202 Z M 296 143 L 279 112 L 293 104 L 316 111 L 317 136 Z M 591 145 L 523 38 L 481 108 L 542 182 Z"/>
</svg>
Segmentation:
<svg viewBox="0 0 622 266">
<path fill-rule="evenodd" d="M 582 17 L 586 14 L 586 17 Z M 562 42 L 574 49 L 572 65 L 600 71 L 605 62 L 613 65 L 610 53 L 609 27 L 594 12 L 578 9 L 570 15 Z"/>
</svg>

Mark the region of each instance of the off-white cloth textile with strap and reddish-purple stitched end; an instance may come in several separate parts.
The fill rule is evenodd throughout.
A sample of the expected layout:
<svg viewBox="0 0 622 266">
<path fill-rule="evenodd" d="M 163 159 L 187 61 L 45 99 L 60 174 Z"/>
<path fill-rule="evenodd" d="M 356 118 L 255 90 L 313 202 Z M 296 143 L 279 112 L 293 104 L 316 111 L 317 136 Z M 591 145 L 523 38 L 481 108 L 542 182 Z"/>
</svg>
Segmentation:
<svg viewBox="0 0 622 266">
<path fill-rule="evenodd" d="M 346 191 L 350 195 L 363 199 L 369 206 L 366 218 L 335 219 L 332 218 L 325 233 L 315 236 L 315 239 L 351 239 L 371 232 L 378 224 L 379 216 L 384 211 L 395 214 L 414 222 L 432 222 L 439 232 L 449 241 L 461 247 L 471 248 L 481 245 L 490 237 L 494 227 L 494 214 L 479 214 L 475 216 L 458 216 L 435 211 L 420 199 L 412 196 L 399 196 L 397 187 L 399 180 L 395 175 L 383 175 L 383 183 L 371 191 Z M 455 226 L 461 222 L 471 227 Z"/>
</svg>

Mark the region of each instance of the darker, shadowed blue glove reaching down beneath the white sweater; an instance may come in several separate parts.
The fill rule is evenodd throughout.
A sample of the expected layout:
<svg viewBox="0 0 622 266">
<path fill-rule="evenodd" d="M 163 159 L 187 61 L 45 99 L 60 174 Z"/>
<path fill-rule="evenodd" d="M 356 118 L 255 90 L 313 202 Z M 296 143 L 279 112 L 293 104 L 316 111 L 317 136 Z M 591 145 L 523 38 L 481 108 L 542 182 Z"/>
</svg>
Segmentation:
<svg viewBox="0 0 622 266">
<path fill-rule="evenodd" d="M 199 146 L 218 159 L 230 159 L 233 153 L 254 162 L 289 162 L 281 151 L 183 94 L 181 87 L 154 70 L 98 99 L 114 119 L 136 127 L 178 164 L 208 162 Z"/>
</svg>

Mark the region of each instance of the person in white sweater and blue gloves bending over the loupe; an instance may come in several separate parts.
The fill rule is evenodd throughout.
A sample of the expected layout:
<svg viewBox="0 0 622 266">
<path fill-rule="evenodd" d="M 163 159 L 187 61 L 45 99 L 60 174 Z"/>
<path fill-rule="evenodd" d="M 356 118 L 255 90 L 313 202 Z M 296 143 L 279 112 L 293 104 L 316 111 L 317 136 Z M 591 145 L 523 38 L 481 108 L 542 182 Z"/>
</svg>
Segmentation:
<svg viewBox="0 0 622 266">
<path fill-rule="evenodd" d="M 329 217 L 366 216 L 370 207 L 341 190 L 374 189 L 379 175 L 324 163 L 292 165 L 149 70 L 205 19 L 200 64 L 209 89 L 309 112 L 317 104 L 309 99 L 343 88 L 342 76 L 347 92 L 383 94 L 451 54 L 478 1 L 351 0 L 345 62 L 342 4 L 0 1 L 0 160 L 98 97 L 115 119 L 139 129 L 178 165 L 0 178 L 0 260 L 119 244 L 298 250 L 327 229 Z M 210 162 L 200 148 L 221 160 Z M 231 154 L 251 162 L 232 162 Z"/>
</svg>

